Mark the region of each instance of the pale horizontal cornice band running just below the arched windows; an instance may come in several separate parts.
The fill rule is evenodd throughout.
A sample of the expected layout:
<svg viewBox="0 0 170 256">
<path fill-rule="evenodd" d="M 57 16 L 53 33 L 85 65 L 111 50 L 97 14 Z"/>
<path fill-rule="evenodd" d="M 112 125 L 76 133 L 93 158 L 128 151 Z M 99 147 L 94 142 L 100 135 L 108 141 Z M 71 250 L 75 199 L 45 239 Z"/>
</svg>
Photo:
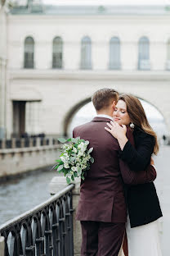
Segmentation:
<svg viewBox="0 0 170 256">
<path fill-rule="evenodd" d="M 170 81 L 170 71 L 11 70 L 11 80 L 134 80 Z"/>
</svg>

